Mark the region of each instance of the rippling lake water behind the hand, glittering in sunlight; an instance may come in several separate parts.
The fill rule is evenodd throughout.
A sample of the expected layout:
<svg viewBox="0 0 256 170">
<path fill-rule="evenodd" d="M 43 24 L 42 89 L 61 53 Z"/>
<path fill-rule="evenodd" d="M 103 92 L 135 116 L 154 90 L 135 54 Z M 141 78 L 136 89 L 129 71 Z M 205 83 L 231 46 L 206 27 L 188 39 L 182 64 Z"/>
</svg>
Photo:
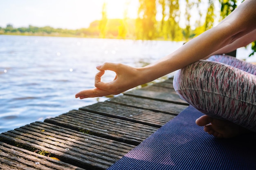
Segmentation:
<svg viewBox="0 0 256 170">
<path fill-rule="evenodd" d="M 182 42 L 0 35 L 0 132 L 106 100 L 76 99 L 103 62 L 143 66 Z M 103 81 L 114 74 L 107 72 Z"/>
</svg>

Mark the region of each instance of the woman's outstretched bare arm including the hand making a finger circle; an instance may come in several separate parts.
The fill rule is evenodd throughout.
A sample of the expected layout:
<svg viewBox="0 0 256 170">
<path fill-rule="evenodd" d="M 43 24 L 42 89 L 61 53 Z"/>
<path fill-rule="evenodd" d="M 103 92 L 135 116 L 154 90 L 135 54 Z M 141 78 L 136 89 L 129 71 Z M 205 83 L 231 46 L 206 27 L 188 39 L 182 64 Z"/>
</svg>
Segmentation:
<svg viewBox="0 0 256 170">
<path fill-rule="evenodd" d="M 83 99 L 119 94 L 183 68 L 222 48 L 229 46 L 233 48 L 233 43 L 244 36 L 246 38 L 248 33 L 256 29 L 255 9 L 256 0 L 245 0 L 216 27 L 205 31 L 170 55 L 146 67 L 134 68 L 124 64 L 104 63 L 97 67 L 99 73 L 95 76 L 96 88 L 81 91 L 76 97 Z M 101 82 L 105 70 L 115 71 L 116 77 L 112 82 Z"/>
</svg>

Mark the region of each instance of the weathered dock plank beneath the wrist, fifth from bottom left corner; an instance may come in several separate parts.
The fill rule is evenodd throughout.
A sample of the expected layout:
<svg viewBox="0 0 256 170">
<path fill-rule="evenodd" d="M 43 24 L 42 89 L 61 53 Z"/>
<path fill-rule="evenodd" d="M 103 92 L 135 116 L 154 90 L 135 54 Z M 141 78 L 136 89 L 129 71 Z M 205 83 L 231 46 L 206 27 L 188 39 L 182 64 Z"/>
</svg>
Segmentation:
<svg viewBox="0 0 256 170">
<path fill-rule="evenodd" d="M 170 102 L 163 102 L 153 99 L 146 99 L 136 96 L 123 95 L 108 99 L 106 102 L 122 104 L 135 108 L 142 108 L 145 110 L 152 110 L 154 112 L 162 112 L 171 115 L 178 115 L 187 106 L 182 104 L 173 104 Z"/>
</svg>

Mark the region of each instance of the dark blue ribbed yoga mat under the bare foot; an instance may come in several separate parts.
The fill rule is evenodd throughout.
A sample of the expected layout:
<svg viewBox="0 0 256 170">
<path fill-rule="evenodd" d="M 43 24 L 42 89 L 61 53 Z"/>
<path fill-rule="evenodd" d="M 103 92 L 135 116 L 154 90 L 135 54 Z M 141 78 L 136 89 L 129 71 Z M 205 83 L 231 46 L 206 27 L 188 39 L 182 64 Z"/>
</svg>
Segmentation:
<svg viewBox="0 0 256 170">
<path fill-rule="evenodd" d="M 189 106 L 108 170 L 256 170 L 256 133 L 216 139 Z"/>
</svg>

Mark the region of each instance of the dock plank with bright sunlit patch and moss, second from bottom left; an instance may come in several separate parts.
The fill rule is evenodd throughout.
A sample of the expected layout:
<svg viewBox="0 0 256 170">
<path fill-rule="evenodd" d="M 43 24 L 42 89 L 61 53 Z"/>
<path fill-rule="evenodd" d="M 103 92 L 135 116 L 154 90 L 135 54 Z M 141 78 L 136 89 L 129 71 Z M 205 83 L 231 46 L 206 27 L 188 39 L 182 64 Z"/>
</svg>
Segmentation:
<svg viewBox="0 0 256 170">
<path fill-rule="evenodd" d="M 106 169 L 134 147 L 43 122 L 4 132 L 0 140 L 88 170 Z"/>
</svg>

